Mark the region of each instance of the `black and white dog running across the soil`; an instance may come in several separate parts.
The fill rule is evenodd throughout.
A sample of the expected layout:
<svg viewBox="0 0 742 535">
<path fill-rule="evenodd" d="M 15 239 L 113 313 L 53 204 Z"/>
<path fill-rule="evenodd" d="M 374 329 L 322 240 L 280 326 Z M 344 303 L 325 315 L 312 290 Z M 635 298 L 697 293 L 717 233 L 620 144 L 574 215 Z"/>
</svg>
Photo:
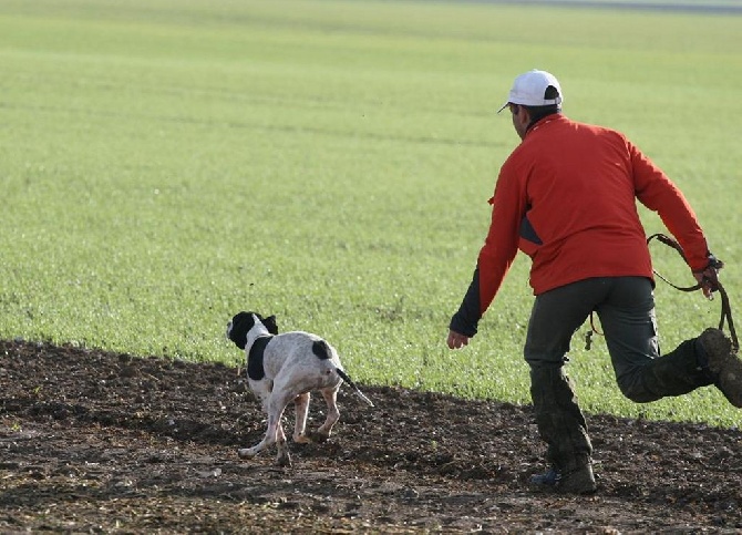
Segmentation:
<svg viewBox="0 0 742 535">
<path fill-rule="evenodd" d="M 253 392 L 268 413 L 268 431 L 261 442 L 239 450 L 239 456 L 251 459 L 276 443 L 276 463 L 291 465 L 281 425 L 289 402 L 296 407 L 293 441 L 299 443 L 326 441 L 340 419 L 337 397 L 346 381 L 369 405 L 363 392 L 342 370 L 338 352 L 322 338 L 303 331 L 278 333 L 276 317 L 264 318 L 257 312 L 239 312 L 227 323 L 227 338 L 245 350 L 247 379 Z M 319 390 L 327 402 L 327 420 L 311 436 L 306 433 L 310 391 Z"/>
</svg>

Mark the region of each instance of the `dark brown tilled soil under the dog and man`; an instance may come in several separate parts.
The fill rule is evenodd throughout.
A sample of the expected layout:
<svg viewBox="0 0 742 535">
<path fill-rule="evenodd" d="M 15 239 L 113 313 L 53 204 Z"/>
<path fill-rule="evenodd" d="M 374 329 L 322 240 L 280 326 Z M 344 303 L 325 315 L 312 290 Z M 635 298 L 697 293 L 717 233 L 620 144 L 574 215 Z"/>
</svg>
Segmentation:
<svg viewBox="0 0 742 535">
<path fill-rule="evenodd" d="M 363 391 L 281 469 L 237 456 L 265 420 L 235 369 L 0 342 L 0 532 L 742 533 L 739 430 L 590 415 L 599 491 L 559 496 L 529 407 Z"/>
</svg>

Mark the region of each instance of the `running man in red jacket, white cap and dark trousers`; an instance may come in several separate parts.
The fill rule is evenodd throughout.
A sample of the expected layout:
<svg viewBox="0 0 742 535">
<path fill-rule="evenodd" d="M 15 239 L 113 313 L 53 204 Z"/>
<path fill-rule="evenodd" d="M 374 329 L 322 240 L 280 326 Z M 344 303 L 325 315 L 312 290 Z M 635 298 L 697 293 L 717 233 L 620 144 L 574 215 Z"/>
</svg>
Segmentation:
<svg viewBox="0 0 742 535">
<path fill-rule="evenodd" d="M 466 346 L 518 249 L 532 259 L 533 306 L 524 356 L 536 423 L 552 469 L 535 486 L 596 490 L 592 446 L 564 371 L 569 342 L 597 312 L 621 392 L 645 403 L 715 384 L 742 407 L 742 361 L 719 329 L 660 357 L 652 265 L 636 199 L 657 212 L 682 247 L 703 294 L 722 264 L 709 251 L 683 194 L 621 133 L 561 114 L 557 79 L 529 71 L 508 100 L 522 143 L 503 164 L 489 199 L 492 224 L 472 284 L 450 325 L 451 349 Z"/>
</svg>

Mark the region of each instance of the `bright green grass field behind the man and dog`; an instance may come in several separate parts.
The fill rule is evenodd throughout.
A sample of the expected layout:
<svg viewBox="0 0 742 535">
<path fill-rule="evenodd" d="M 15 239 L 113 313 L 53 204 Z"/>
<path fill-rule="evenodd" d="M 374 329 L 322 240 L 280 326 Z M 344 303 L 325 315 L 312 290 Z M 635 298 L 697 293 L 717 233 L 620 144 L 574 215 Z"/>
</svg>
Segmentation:
<svg viewBox="0 0 742 535">
<path fill-rule="evenodd" d="M 554 72 L 567 115 L 676 179 L 734 307 L 741 31 L 485 3 L 3 0 L 0 337 L 237 364 L 225 325 L 258 310 L 324 335 L 360 382 L 527 403 L 525 257 L 473 344 L 444 343 L 518 141 L 494 113 L 513 78 Z M 660 284 L 657 301 L 666 349 L 719 320 L 700 295 Z M 599 339 L 571 362 L 588 412 L 742 421 L 713 389 L 622 399 Z"/>
</svg>

